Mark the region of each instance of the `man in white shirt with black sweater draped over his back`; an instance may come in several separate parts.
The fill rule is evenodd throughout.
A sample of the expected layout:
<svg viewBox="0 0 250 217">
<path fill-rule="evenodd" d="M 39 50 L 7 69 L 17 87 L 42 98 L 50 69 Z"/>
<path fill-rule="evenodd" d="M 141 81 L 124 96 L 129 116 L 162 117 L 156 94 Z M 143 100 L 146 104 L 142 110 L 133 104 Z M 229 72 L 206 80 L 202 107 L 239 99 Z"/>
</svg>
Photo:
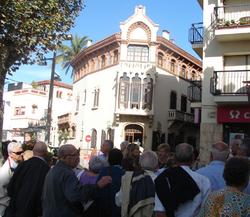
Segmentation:
<svg viewBox="0 0 250 217">
<path fill-rule="evenodd" d="M 157 217 L 197 216 L 210 192 L 209 180 L 192 171 L 194 149 L 187 143 L 176 146 L 178 166 L 167 168 L 155 179 L 155 212 Z"/>
</svg>

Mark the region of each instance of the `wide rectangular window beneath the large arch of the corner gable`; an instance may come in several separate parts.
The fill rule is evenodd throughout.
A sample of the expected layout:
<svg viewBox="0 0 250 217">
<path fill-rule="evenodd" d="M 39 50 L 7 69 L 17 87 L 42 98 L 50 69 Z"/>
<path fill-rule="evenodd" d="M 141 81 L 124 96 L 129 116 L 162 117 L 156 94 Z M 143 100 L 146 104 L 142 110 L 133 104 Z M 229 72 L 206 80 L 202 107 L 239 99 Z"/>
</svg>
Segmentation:
<svg viewBox="0 0 250 217">
<path fill-rule="evenodd" d="M 149 60 L 148 46 L 129 45 L 127 52 L 127 60 L 134 62 L 147 62 Z"/>
</svg>

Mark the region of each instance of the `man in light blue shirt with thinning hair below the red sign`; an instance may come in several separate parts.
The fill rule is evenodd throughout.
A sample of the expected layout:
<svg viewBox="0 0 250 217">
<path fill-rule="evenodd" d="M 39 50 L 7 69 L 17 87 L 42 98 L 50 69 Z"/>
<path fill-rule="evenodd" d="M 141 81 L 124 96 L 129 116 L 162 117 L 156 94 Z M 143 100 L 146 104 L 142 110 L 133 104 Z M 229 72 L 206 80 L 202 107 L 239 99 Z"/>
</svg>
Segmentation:
<svg viewBox="0 0 250 217">
<path fill-rule="evenodd" d="M 229 153 L 229 146 L 226 143 L 217 142 L 213 144 L 210 152 L 211 162 L 206 167 L 196 171 L 209 179 L 212 191 L 217 191 L 226 186 L 223 171 Z"/>
</svg>

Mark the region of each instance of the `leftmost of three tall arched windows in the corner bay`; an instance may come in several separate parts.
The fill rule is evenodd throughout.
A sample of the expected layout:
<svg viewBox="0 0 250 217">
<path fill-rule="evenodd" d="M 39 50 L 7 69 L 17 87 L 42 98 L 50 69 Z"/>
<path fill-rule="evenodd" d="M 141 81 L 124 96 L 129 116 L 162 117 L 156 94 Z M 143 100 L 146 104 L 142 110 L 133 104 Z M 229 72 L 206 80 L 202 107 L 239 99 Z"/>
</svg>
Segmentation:
<svg viewBox="0 0 250 217">
<path fill-rule="evenodd" d="M 120 78 L 119 108 L 128 108 L 129 81 L 130 81 L 130 79 L 127 76 L 127 73 L 124 72 L 123 76 Z"/>
</svg>

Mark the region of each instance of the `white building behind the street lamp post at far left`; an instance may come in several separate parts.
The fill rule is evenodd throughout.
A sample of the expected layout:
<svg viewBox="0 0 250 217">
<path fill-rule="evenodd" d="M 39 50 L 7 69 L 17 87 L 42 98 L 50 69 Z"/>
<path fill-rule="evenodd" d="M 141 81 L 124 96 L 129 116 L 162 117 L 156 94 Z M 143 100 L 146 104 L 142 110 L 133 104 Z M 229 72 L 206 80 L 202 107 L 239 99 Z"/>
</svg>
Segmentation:
<svg viewBox="0 0 250 217">
<path fill-rule="evenodd" d="M 3 139 L 45 140 L 50 81 L 9 84 L 4 92 Z M 58 146 L 58 116 L 72 110 L 72 86 L 54 81 L 51 145 Z"/>
</svg>

